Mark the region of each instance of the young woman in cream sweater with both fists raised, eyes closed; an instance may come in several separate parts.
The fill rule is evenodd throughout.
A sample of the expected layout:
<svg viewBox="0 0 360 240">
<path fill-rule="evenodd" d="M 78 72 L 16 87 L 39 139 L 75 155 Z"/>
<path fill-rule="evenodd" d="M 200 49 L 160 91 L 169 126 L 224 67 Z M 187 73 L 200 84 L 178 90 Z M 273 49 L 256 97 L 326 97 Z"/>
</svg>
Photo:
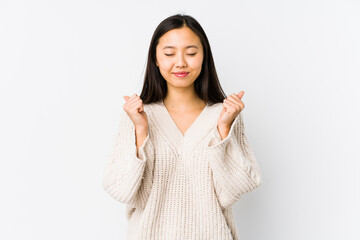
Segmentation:
<svg viewBox="0 0 360 240">
<path fill-rule="evenodd" d="M 127 204 L 127 239 L 238 239 L 232 205 L 262 183 L 243 95 L 224 94 L 193 17 L 159 24 L 104 172 L 104 189 Z"/>
</svg>

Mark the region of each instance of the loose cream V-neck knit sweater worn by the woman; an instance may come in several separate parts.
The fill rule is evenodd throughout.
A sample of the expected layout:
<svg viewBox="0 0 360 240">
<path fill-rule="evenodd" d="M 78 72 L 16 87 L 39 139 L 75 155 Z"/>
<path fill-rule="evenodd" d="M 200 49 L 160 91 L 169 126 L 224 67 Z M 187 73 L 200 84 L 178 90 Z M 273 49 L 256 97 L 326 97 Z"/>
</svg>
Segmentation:
<svg viewBox="0 0 360 240">
<path fill-rule="evenodd" d="M 163 101 L 144 104 L 148 135 L 136 155 L 125 111 L 103 175 L 103 188 L 126 203 L 127 239 L 238 239 L 232 205 L 262 183 L 242 112 L 221 140 L 222 103 L 206 105 L 185 135 Z"/>
</svg>

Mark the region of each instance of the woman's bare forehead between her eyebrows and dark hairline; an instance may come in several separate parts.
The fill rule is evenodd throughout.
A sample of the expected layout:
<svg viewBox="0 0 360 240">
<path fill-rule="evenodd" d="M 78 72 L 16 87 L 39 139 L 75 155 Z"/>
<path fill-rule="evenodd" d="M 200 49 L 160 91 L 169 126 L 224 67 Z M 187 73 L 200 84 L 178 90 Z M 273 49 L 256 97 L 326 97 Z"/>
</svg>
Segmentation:
<svg viewBox="0 0 360 240">
<path fill-rule="evenodd" d="M 159 39 L 158 47 L 186 48 L 188 46 L 197 46 L 200 48 L 200 38 L 188 27 L 172 29 L 165 33 Z M 170 48 L 171 49 L 171 48 Z"/>
</svg>

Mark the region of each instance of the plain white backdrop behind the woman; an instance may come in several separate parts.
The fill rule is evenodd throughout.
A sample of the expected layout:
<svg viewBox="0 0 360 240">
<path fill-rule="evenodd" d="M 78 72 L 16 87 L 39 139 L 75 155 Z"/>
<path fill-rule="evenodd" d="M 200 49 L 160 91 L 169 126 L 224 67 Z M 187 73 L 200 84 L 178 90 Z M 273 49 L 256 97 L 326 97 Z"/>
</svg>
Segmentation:
<svg viewBox="0 0 360 240">
<path fill-rule="evenodd" d="M 166 17 L 204 28 L 227 95 L 245 91 L 263 184 L 243 240 L 360 239 L 360 3 L 0 0 L 0 239 L 125 239 L 101 186 L 124 95 Z"/>
</svg>

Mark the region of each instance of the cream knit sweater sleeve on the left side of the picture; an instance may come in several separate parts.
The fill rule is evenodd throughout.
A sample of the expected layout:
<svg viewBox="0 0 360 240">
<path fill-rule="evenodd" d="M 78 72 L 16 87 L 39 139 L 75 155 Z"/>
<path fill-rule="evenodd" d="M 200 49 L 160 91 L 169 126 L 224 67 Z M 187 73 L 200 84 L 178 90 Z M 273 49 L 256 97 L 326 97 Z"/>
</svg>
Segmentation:
<svg viewBox="0 0 360 240">
<path fill-rule="evenodd" d="M 135 126 L 125 111 L 121 113 L 112 150 L 103 173 L 103 188 L 129 207 L 144 208 L 153 180 L 154 147 L 150 129 L 136 154 Z"/>
</svg>

